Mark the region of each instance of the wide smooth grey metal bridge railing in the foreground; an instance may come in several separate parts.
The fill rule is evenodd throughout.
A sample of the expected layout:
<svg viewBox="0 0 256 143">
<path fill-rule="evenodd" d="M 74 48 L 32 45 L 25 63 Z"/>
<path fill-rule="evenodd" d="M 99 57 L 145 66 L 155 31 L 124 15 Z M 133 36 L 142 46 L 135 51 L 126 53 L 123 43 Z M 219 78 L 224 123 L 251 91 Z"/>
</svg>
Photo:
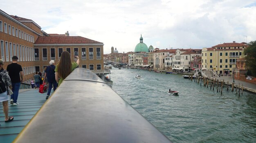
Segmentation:
<svg viewBox="0 0 256 143">
<path fill-rule="evenodd" d="M 171 130 L 171 129 L 170 129 Z M 75 69 L 14 143 L 170 143 L 89 69 Z"/>
</svg>

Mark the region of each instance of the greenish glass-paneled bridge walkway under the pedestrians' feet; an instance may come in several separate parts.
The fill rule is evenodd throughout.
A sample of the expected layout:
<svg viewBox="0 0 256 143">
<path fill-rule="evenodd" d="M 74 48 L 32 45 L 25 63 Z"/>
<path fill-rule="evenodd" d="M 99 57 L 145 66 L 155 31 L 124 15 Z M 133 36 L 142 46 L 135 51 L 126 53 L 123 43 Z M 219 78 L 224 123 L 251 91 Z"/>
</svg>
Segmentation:
<svg viewBox="0 0 256 143">
<path fill-rule="evenodd" d="M 52 90 L 53 92 L 53 90 Z M 0 142 L 11 143 L 18 136 L 21 130 L 34 117 L 37 111 L 45 103 L 47 93 L 39 93 L 38 89 L 20 89 L 18 106 L 11 105 L 9 100 L 9 116 L 14 119 L 11 122 L 4 122 L 2 103 L 0 104 Z"/>
</svg>

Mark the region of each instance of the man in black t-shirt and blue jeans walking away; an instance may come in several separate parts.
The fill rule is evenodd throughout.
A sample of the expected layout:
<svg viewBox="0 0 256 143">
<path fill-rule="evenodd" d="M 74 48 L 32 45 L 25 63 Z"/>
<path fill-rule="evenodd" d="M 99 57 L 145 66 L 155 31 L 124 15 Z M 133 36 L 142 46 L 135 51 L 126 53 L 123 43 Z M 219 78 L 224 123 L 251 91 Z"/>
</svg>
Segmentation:
<svg viewBox="0 0 256 143">
<path fill-rule="evenodd" d="M 12 92 L 11 95 L 11 104 L 18 105 L 18 94 L 20 89 L 20 82 L 23 81 L 23 72 L 22 67 L 17 63 L 18 57 L 13 56 L 12 58 L 13 63 L 7 65 L 7 71 L 9 72 L 9 76 L 11 78 L 11 85 L 12 85 Z"/>
</svg>

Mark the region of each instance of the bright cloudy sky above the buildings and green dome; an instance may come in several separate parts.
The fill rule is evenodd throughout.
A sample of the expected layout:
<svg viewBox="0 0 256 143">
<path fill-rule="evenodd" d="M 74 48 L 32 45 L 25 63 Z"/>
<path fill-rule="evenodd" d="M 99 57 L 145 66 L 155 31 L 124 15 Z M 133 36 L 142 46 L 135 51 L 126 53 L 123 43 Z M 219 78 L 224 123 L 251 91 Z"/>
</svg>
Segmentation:
<svg viewBox="0 0 256 143">
<path fill-rule="evenodd" d="M 82 36 L 119 53 L 139 43 L 202 49 L 256 40 L 256 0 L 0 0 L 9 15 L 33 20 L 48 34 Z"/>
</svg>

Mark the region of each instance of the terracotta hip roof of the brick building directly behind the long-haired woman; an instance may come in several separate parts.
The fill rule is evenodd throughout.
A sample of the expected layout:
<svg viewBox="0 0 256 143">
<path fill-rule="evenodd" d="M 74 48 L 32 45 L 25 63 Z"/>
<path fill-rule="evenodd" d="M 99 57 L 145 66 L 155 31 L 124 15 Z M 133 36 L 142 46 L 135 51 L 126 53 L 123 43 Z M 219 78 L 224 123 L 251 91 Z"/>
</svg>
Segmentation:
<svg viewBox="0 0 256 143">
<path fill-rule="evenodd" d="M 35 44 L 103 44 L 81 36 L 39 36 Z"/>
</svg>

